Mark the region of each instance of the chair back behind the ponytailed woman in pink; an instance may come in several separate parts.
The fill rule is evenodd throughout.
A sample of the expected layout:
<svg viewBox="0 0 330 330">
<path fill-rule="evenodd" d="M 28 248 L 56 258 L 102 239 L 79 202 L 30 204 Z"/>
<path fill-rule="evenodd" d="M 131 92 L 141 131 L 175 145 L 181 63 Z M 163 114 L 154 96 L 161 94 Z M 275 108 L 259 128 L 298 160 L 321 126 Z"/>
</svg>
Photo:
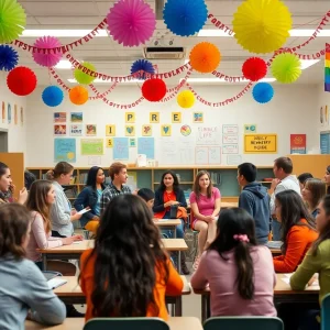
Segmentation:
<svg viewBox="0 0 330 330">
<path fill-rule="evenodd" d="M 204 323 L 205 330 L 284 330 L 280 319 L 272 317 L 216 317 Z"/>
</svg>

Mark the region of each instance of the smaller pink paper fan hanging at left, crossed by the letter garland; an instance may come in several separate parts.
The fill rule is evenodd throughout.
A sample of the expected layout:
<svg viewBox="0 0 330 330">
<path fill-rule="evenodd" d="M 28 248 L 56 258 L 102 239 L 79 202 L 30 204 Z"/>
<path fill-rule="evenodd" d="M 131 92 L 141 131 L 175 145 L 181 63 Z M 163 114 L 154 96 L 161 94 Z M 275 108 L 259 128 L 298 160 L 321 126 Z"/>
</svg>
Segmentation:
<svg viewBox="0 0 330 330">
<path fill-rule="evenodd" d="M 42 36 L 37 38 L 34 43 L 35 47 L 38 48 L 55 48 L 55 47 L 61 47 L 62 44 L 59 40 L 55 36 Z M 41 66 L 46 66 L 46 67 L 52 67 L 55 66 L 62 58 L 62 52 L 54 52 L 51 51 L 50 54 L 44 54 L 43 51 L 35 51 L 33 53 L 33 59 L 36 64 Z"/>
</svg>

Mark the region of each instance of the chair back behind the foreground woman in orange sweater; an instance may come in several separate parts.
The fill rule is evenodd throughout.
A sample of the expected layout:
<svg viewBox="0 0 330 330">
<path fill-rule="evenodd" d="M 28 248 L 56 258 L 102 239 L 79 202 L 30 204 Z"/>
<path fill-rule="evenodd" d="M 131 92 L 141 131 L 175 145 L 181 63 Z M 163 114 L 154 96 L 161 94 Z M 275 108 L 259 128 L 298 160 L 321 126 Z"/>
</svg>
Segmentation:
<svg viewBox="0 0 330 330">
<path fill-rule="evenodd" d="M 95 318 L 86 322 L 84 330 L 169 330 L 158 318 Z"/>
</svg>

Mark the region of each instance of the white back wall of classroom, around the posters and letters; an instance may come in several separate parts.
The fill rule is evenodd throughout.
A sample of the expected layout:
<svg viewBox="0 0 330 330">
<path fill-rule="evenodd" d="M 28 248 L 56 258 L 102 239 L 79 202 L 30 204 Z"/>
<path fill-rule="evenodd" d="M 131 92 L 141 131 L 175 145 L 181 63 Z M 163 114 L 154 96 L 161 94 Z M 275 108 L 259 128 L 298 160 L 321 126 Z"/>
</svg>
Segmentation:
<svg viewBox="0 0 330 330">
<path fill-rule="evenodd" d="M 196 91 L 205 99 L 210 101 L 223 101 L 233 97 L 243 86 L 209 86 L 204 87 L 194 86 Z M 116 136 L 124 136 L 125 122 L 124 113 L 134 111 L 136 116 L 135 123 L 135 139 L 141 136 L 142 125 L 150 123 L 150 112 L 160 112 L 161 123 L 152 124 L 153 136 L 155 138 L 156 160 L 166 163 L 168 158 L 173 162 L 174 157 L 179 158 L 182 154 L 173 157 L 169 155 L 168 148 L 176 147 L 176 144 L 186 145 L 187 153 L 195 153 L 196 138 L 194 134 L 198 128 L 217 127 L 219 129 L 219 139 L 222 138 L 223 124 L 237 124 L 239 129 L 239 162 L 254 162 L 257 165 L 272 165 L 273 161 L 278 155 L 289 154 L 290 133 L 306 133 L 307 134 L 307 150 L 315 147 L 319 143 L 318 118 L 316 111 L 319 103 L 319 87 L 292 85 L 279 86 L 274 85 L 274 99 L 267 105 L 256 103 L 251 96 L 246 94 L 238 101 L 223 107 L 210 108 L 199 101 L 196 101 L 191 109 L 180 109 L 175 98 L 166 103 L 151 103 L 143 101 L 133 110 L 114 109 L 102 101 L 89 101 L 84 106 L 74 106 L 66 97 L 65 101 L 57 108 L 52 109 L 43 105 L 41 100 L 42 89 L 37 89 L 32 96 L 28 97 L 29 116 L 26 141 L 28 166 L 52 166 L 54 164 L 54 119 L 53 114 L 56 111 L 67 112 L 67 127 L 69 128 L 69 112 L 84 113 L 84 124 L 97 124 L 97 138 L 103 138 L 106 133 L 106 124 L 116 124 Z M 130 103 L 141 96 L 138 86 L 125 86 L 117 88 L 108 98 L 117 103 Z M 194 112 L 204 112 L 204 123 L 193 123 Z M 182 123 L 172 123 L 172 112 L 182 112 Z M 161 136 L 161 125 L 172 125 L 172 136 Z M 180 127 L 188 124 L 191 128 L 191 135 L 184 138 L 180 134 Z M 244 154 L 243 153 L 243 133 L 244 124 L 256 124 L 257 133 L 277 133 L 278 134 L 278 150 L 277 154 Z M 69 134 L 66 135 L 69 138 Z M 82 136 L 86 139 L 86 136 Z M 134 138 L 134 136 L 132 136 Z M 105 155 L 100 158 L 81 156 L 80 155 L 80 138 L 76 138 L 77 142 L 77 161 L 75 166 L 90 166 L 95 162 L 101 162 L 102 166 L 108 166 L 112 162 L 112 148 L 105 147 Z M 185 144 L 185 142 L 188 142 Z M 166 150 L 164 150 L 166 145 Z M 127 163 L 134 163 L 136 160 L 136 147 L 130 147 L 130 160 Z M 186 156 L 190 160 L 190 164 L 195 165 L 195 156 Z M 193 160 L 193 161 L 191 161 Z M 187 161 L 188 163 L 188 161 Z M 221 164 L 228 165 L 227 155 L 221 155 Z M 170 167 L 170 166 L 168 166 Z"/>
</svg>

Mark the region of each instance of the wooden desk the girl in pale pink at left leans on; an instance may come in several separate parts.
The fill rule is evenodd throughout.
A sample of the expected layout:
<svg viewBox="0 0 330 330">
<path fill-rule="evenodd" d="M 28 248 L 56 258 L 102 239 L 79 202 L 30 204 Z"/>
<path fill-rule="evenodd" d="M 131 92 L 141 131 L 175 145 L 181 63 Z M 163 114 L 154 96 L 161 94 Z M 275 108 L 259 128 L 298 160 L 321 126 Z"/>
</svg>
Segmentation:
<svg viewBox="0 0 330 330">
<path fill-rule="evenodd" d="M 94 248 L 94 240 L 84 240 L 77 244 L 63 245 L 54 249 L 37 249 L 43 255 L 43 267 L 47 270 L 47 260 L 79 260 L 84 251 Z M 178 251 L 178 271 L 180 271 L 180 252 L 188 250 L 184 239 L 163 239 L 164 248 L 167 251 Z"/>
</svg>

